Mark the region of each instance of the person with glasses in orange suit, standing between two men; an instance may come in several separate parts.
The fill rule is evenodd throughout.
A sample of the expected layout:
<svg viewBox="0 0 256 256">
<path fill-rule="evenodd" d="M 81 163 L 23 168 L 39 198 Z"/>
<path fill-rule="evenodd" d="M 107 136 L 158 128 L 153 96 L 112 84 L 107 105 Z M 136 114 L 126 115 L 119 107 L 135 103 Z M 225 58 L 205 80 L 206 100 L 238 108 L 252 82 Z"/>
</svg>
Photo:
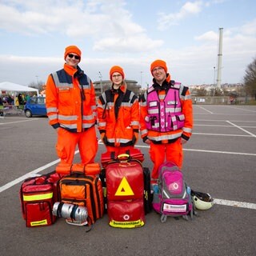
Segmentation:
<svg viewBox="0 0 256 256">
<path fill-rule="evenodd" d="M 138 141 L 139 106 L 134 92 L 127 90 L 121 66 L 112 66 L 112 87 L 98 98 L 98 130 L 106 150 L 116 155 Z"/>
</svg>

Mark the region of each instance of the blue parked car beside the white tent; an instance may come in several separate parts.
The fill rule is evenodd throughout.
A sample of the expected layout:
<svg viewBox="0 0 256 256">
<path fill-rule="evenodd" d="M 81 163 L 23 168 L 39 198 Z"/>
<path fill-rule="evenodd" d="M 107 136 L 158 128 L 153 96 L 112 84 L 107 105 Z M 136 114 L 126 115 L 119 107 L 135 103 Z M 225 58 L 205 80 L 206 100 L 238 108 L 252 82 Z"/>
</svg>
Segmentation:
<svg viewBox="0 0 256 256">
<path fill-rule="evenodd" d="M 33 115 L 46 116 L 46 98 L 31 97 L 24 106 L 24 112 L 27 118 L 32 118 Z"/>
</svg>

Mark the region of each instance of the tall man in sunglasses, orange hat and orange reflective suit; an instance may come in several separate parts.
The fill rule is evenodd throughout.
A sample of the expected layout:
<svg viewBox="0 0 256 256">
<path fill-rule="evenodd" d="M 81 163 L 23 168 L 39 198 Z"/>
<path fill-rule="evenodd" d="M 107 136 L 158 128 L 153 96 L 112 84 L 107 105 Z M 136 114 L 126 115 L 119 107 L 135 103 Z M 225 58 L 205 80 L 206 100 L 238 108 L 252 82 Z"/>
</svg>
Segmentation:
<svg viewBox="0 0 256 256">
<path fill-rule="evenodd" d="M 62 70 L 50 74 L 46 83 L 46 110 L 57 130 L 56 150 L 61 162 L 72 163 L 78 146 L 83 164 L 94 162 L 98 150 L 95 130 L 94 86 L 78 66 L 81 50 L 67 46 Z"/>
</svg>

